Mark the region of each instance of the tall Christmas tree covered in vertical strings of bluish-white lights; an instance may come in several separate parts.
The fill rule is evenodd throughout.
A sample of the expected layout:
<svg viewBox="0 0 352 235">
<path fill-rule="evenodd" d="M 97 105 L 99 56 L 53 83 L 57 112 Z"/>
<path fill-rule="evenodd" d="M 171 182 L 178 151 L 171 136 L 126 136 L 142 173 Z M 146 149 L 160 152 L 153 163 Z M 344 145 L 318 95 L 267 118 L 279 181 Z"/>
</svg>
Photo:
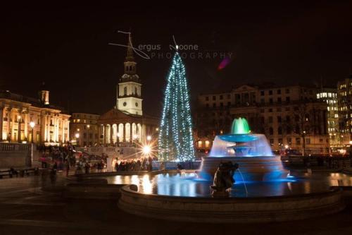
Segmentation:
<svg viewBox="0 0 352 235">
<path fill-rule="evenodd" d="M 161 161 L 194 159 L 191 107 L 184 64 L 178 52 L 167 78 L 158 148 Z"/>
</svg>

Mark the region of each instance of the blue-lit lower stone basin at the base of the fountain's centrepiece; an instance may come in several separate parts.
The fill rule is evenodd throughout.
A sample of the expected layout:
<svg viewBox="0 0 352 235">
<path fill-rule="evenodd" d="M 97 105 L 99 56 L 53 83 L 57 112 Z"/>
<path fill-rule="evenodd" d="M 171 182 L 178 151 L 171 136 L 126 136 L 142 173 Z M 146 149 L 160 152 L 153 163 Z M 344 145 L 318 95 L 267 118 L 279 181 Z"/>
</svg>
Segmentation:
<svg viewBox="0 0 352 235">
<path fill-rule="evenodd" d="M 219 164 L 229 161 L 239 164 L 240 174 L 234 174 L 236 181 L 275 181 L 286 179 L 289 174 L 277 156 L 204 157 L 198 174 L 203 178 L 212 179 Z"/>
</svg>

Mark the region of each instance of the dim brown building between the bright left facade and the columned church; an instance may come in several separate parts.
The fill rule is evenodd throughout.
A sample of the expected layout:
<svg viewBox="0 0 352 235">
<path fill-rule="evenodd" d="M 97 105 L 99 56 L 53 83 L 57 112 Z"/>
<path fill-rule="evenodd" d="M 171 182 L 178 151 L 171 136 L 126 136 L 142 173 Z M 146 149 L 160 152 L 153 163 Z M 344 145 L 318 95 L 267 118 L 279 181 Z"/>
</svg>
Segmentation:
<svg viewBox="0 0 352 235">
<path fill-rule="evenodd" d="M 99 114 L 73 113 L 70 121 L 71 143 L 95 146 L 99 142 Z"/>
</svg>

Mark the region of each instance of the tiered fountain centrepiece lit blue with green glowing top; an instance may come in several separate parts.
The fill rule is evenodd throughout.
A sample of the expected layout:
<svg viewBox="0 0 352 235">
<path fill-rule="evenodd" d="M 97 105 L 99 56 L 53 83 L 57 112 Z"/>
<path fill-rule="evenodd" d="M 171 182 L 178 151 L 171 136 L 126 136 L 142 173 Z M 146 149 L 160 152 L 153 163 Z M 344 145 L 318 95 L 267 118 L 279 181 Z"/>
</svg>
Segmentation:
<svg viewBox="0 0 352 235">
<path fill-rule="evenodd" d="M 243 118 L 234 119 L 230 134 L 215 137 L 199 174 L 209 179 L 221 162 L 228 161 L 239 164 L 240 174 L 234 176 L 236 181 L 276 181 L 286 179 L 289 173 L 281 159 L 272 154 L 265 135 L 252 134 Z"/>
</svg>

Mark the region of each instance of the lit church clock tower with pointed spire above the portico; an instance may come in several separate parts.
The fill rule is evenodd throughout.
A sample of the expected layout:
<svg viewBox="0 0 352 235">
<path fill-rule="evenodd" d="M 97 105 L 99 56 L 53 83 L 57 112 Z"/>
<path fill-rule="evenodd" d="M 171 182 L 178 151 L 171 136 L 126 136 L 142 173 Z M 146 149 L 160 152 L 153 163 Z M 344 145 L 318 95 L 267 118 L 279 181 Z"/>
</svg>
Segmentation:
<svg viewBox="0 0 352 235">
<path fill-rule="evenodd" d="M 124 65 L 125 73 L 117 86 L 116 107 L 122 112 L 142 116 L 142 83 L 136 71 L 137 63 L 134 61 L 131 34 L 128 35 Z"/>
</svg>

